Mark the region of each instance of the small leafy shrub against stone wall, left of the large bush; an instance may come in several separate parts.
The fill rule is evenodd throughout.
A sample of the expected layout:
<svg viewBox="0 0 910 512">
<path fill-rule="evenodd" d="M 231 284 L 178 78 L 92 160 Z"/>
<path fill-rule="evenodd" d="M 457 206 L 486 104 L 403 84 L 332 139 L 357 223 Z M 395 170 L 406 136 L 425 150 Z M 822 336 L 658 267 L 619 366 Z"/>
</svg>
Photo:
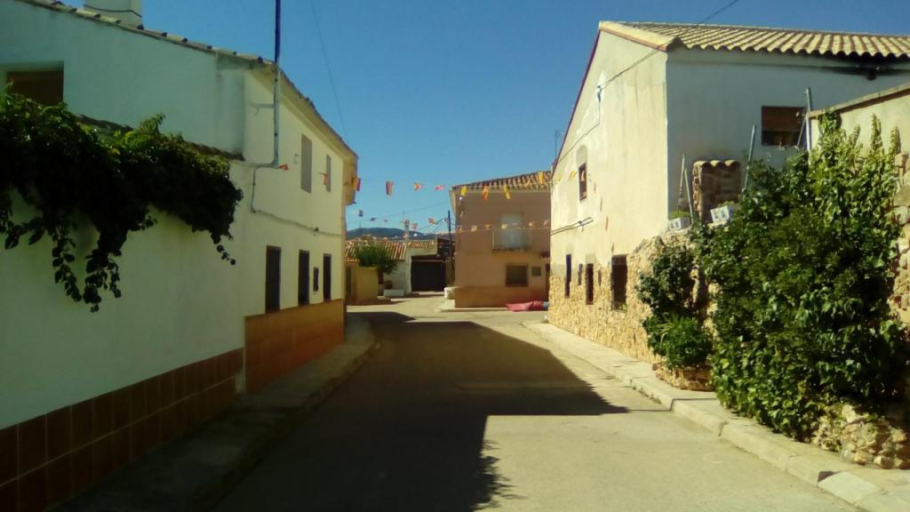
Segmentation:
<svg viewBox="0 0 910 512">
<path fill-rule="evenodd" d="M 648 347 L 661 355 L 670 369 L 697 366 L 711 353 L 711 337 L 704 332 L 695 302 L 695 254 L 686 245 L 662 245 L 651 271 L 642 273 L 636 291 L 652 315 L 642 326 Z"/>
</svg>

